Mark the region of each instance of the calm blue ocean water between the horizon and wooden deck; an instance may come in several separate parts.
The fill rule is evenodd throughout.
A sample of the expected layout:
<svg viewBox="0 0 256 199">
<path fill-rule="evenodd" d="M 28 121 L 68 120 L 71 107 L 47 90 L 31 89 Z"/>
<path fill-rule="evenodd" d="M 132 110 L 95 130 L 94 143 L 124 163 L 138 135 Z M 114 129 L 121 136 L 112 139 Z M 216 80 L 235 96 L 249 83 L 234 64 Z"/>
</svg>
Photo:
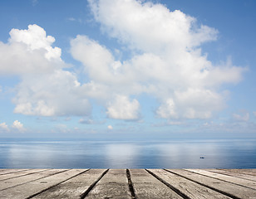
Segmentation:
<svg viewBox="0 0 256 199">
<path fill-rule="evenodd" d="M 89 167 L 256 168 L 256 140 L 0 141 L 0 168 Z"/>
</svg>

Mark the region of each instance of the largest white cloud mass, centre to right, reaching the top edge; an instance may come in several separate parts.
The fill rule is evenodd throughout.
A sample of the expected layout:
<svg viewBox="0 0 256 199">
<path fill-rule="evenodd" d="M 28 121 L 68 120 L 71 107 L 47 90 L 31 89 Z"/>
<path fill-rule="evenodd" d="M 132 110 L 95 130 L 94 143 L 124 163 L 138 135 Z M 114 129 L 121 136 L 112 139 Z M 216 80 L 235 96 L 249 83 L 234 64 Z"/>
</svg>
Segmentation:
<svg viewBox="0 0 256 199">
<path fill-rule="evenodd" d="M 230 59 L 214 66 L 202 54 L 200 45 L 216 40 L 217 30 L 152 2 L 89 2 L 101 30 L 133 55 L 116 60 L 111 50 L 87 36 L 71 41 L 72 56 L 91 78 L 88 93 L 106 101 L 102 104 L 110 118 L 138 118 L 140 104 L 129 98 L 141 93 L 160 101 L 155 113 L 165 119 L 208 119 L 224 108 L 226 95 L 220 86 L 238 83 L 245 69 Z"/>
</svg>

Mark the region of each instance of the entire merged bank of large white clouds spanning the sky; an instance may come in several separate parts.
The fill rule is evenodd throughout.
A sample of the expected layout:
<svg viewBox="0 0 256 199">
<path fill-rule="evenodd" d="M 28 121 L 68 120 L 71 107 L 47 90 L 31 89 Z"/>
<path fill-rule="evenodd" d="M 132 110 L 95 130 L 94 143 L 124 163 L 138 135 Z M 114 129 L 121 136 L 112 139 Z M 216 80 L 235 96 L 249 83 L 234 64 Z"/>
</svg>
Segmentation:
<svg viewBox="0 0 256 199">
<path fill-rule="evenodd" d="M 162 4 L 136 0 L 88 0 L 96 22 L 130 54 L 127 60 L 88 36 L 71 40 L 71 55 L 88 77 L 79 82 L 66 70 L 62 50 L 42 27 L 12 29 L 0 42 L 0 74 L 19 75 L 15 113 L 43 116 L 89 115 L 89 99 L 111 119 L 139 119 L 138 96 L 155 97 L 164 119 L 209 119 L 224 108 L 221 85 L 242 80 L 232 61 L 214 65 L 200 46 L 218 31 Z M 121 50 L 120 50 L 121 51 Z M 128 56 L 129 57 L 129 56 Z M 83 121 L 81 121 L 82 123 Z"/>
</svg>

